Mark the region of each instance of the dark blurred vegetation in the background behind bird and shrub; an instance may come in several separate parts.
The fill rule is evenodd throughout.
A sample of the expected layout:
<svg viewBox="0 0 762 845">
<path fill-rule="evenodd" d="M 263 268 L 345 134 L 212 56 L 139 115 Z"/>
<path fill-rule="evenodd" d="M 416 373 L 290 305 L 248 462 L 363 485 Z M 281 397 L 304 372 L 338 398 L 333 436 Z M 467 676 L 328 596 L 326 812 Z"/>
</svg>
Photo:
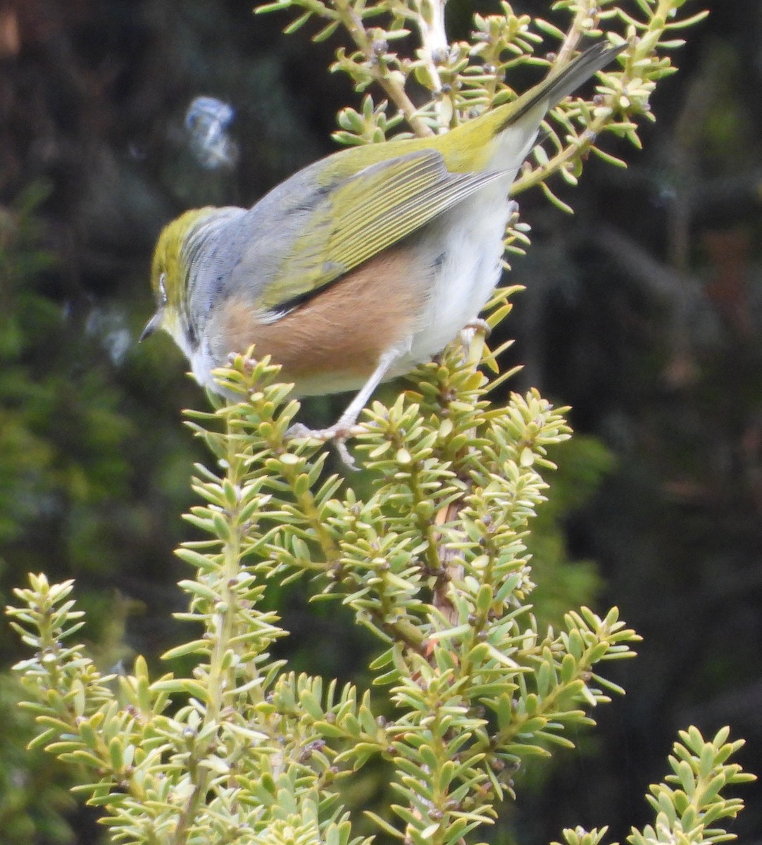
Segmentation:
<svg viewBox="0 0 762 845">
<path fill-rule="evenodd" d="M 205 460 L 181 424 L 205 399 L 179 352 L 135 340 L 156 234 L 189 206 L 251 204 L 329 152 L 336 110 L 357 103 L 325 70 L 330 44 L 282 36 L 251 5 L 0 0 L 0 591 L 27 570 L 75 577 L 106 667 L 177 639 L 172 549 Z M 574 218 L 522 197 L 534 234 L 503 329 L 526 363 L 512 386 L 571 404 L 585 434 L 555 455 L 539 601 L 548 615 L 618 604 L 645 637 L 618 667 L 628 697 L 580 751 L 525 775 L 511 813 L 525 845 L 577 823 L 626 835 L 689 722 L 730 724 L 762 770 L 762 7 L 709 5 L 654 97 L 645 150 L 618 150 L 629 170 L 591 161 L 563 194 Z M 515 6 L 547 16 L 540 0 Z M 450 12 L 465 32 L 469 4 Z M 235 109 L 235 166 L 193 158 L 197 95 Z M 288 598 L 297 668 L 362 670 L 362 636 L 337 638 L 333 613 Z M 0 651 L 3 666 L 22 653 L 7 630 Z M 0 840 L 95 842 L 68 776 L 24 752 L 14 695 L 2 681 Z M 734 832 L 759 841 L 762 795 L 743 793 Z"/>
</svg>

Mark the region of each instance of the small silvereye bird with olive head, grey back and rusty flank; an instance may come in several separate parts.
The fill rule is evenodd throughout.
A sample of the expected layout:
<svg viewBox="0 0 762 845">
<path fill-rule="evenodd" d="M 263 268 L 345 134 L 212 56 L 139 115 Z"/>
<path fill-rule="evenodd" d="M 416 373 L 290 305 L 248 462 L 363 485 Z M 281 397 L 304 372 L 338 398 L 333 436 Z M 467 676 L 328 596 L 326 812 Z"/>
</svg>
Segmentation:
<svg viewBox="0 0 762 845">
<path fill-rule="evenodd" d="M 297 395 L 359 390 L 324 439 L 344 439 L 376 386 L 441 352 L 498 282 L 509 190 L 549 108 L 620 52 L 597 44 L 518 99 L 446 134 L 351 147 L 253 208 L 187 211 L 151 270 L 164 329 L 201 384 L 256 344 Z"/>
</svg>

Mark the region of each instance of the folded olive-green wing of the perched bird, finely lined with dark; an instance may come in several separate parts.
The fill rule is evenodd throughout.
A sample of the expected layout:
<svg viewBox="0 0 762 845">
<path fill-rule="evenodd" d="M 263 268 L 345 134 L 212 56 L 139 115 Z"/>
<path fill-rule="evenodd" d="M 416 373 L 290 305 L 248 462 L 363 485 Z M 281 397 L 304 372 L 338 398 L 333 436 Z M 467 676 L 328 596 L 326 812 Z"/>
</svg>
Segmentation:
<svg viewBox="0 0 762 845">
<path fill-rule="evenodd" d="M 318 183 L 302 197 L 299 229 L 271 268 L 261 306 L 273 313 L 291 308 L 504 176 L 453 173 L 437 150 L 420 150 L 368 166 L 335 185 Z"/>
</svg>

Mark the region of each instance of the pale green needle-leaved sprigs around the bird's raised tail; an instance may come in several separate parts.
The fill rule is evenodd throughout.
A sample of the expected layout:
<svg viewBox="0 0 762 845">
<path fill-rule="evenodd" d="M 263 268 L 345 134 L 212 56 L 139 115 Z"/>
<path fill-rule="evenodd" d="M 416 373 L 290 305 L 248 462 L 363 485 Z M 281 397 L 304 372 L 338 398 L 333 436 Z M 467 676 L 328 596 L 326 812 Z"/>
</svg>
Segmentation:
<svg viewBox="0 0 762 845">
<path fill-rule="evenodd" d="M 552 109 L 543 124 L 544 139 L 532 154 L 534 161 L 525 162 L 514 183 L 514 195 L 540 186 L 553 204 L 570 210 L 547 184 L 548 178 L 558 173 L 565 182 L 576 184 L 590 153 L 625 166 L 601 149 L 598 137 L 608 132 L 640 147 L 634 121 L 654 119 L 650 94 L 658 79 L 676 70 L 663 51 L 682 46 L 678 37 L 682 30 L 708 14 L 683 16 L 686 0 L 638 0 L 633 5 L 625 8 L 617 0 L 557 0 L 552 3 L 557 25 L 515 14 L 503 0 L 500 14 L 474 15 L 470 41 L 448 40 L 444 3 L 438 0 L 276 0 L 256 11 L 295 13 L 297 17 L 286 26 L 288 33 L 318 19 L 324 26 L 313 35 L 315 41 L 343 31 L 349 46 L 338 48 L 332 70 L 347 74 L 358 91 L 370 85 L 384 90 L 387 101 L 377 104 L 366 95 L 359 111 L 347 107 L 340 112 L 340 129 L 334 137 L 342 144 L 378 143 L 403 120 L 415 134 L 433 134 L 512 99 L 509 77 L 517 66 L 561 66 L 585 36 L 607 36 L 612 44 L 627 41 L 620 57 L 623 67 L 600 74 L 601 85 L 593 99 L 575 97 Z M 395 48 L 408 43 L 409 36 L 417 46 L 408 55 L 400 54 Z M 421 106 L 411 99 L 416 87 L 427 93 Z M 391 115 L 389 102 L 395 106 Z"/>
</svg>

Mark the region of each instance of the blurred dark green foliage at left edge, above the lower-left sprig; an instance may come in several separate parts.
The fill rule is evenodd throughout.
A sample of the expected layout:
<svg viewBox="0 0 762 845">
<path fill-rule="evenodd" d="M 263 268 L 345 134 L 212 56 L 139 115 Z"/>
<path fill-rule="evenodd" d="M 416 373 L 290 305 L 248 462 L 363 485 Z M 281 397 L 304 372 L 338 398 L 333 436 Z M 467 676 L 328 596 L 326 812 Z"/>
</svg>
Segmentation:
<svg viewBox="0 0 762 845">
<path fill-rule="evenodd" d="M 45 198 L 36 185 L 0 206 L 3 588 L 10 564 L 103 579 L 133 570 L 136 550 L 173 545 L 155 525 L 155 492 L 146 488 L 166 493 L 174 474 L 176 508 L 188 501 L 188 444 L 173 423 L 156 423 L 146 438 L 161 406 L 154 402 L 141 426 L 123 384 L 128 367 L 117 373 L 112 344 L 132 342 L 123 320 L 110 325 L 105 308 L 85 313 L 76 296 L 48 295 L 64 270 L 45 246 Z M 161 538 L 149 536 L 158 529 Z"/>
</svg>

